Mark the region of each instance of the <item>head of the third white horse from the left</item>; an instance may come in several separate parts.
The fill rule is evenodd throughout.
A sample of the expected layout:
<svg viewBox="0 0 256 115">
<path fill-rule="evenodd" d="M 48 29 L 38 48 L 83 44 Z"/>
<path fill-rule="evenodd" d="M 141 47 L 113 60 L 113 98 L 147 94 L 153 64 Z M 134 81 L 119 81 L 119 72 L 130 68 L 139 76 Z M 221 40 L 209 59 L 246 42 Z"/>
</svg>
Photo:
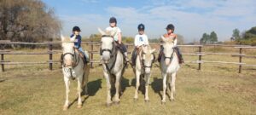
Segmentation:
<svg viewBox="0 0 256 115">
<path fill-rule="evenodd" d="M 151 67 L 154 63 L 154 51 L 155 49 L 151 49 L 149 45 L 145 45 L 142 48 L 142 60 L 143 66 L 145 68 L 145 73 L 149 74 L 151 71 Z"/>
</svg>

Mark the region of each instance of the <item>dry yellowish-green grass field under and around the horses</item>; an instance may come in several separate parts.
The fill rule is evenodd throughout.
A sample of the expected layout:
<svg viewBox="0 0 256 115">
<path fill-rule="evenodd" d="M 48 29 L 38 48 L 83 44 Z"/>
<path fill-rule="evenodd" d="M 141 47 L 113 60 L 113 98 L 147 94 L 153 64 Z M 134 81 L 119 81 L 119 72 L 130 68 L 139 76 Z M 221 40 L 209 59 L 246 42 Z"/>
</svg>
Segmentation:
<svg viewBox="0 0 256 115">
<path fill-rule="evenodd" d="M 47 60 L 47 57 L 19 55 L 16 60 L 16 56 L 7 55 L 6 59 L 36 61 Z M 55 55 L 54 59 L 58 57 Z M 205 60 L 220 58 L 203 57 Z M 185 56 L 185 60 L 196 59 Z M 238 58 L 223 60 L 238 61 Z M 245 61 L 255 62 L 254 59 Z M 154 66 L 150 79 L 149 103 L 144 102 L 141 91 L 139 100 L 133 101 L 135 77 L 129 67 L 122 80 L 124 92 L 120 104 L 106 107 L 106 82 L 102 76 L 102 66 L 96 66 L 90 70 L 89 95 L 83 95 L 81 109 L 77 108 L 77 82 L 71 81 L 71 106 L 66 112 L 62 111 L 65 85 L 58 67 L 54 65 L 54 71 L 49 71 L 47 65 L 6 66 L 6 72 L 0 72 L 0 114 L 256 114 L 255 67 L 243 67 L 239 74 L 236 65 L 206 63 L 201 71 L 197 70 L 195 64 L 183 65 L 177 73 L 176 100 L 166 100 L 166 105 L 160 103 L 162 79 L 159 67 Z"/>
</svg>

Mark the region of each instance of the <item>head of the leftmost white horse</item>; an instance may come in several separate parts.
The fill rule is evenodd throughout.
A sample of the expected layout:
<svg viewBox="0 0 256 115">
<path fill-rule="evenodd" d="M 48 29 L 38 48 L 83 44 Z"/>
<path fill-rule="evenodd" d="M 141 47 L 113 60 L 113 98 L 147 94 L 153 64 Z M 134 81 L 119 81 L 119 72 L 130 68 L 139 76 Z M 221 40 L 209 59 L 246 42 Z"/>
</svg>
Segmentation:
<svg viewBox="0 0 256 115">
<path fill-rule="evenodd" d="M 61 35 L 61 46 L 63 51 L 63 64 L 66 67 L 73 67 L 75 37 L 66 38 Z"/>
</svg>

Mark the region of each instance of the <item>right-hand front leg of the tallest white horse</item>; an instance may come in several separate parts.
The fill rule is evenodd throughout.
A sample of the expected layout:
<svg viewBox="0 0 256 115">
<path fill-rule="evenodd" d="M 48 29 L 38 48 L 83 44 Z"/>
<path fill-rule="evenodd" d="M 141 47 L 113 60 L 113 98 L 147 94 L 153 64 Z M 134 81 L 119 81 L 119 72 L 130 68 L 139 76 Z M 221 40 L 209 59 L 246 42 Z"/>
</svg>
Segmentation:
<svg viewBox="0 0 256 115">
<path fill-rule="evenodd" d="M 114 95 L 114 98 L 113 98 L 113 101 L 116 103 L 116 104 L 119 104 L 120 102 L 120 99 L 119 99 L 119 86 L 120 86 L 120 79 L 121 79 L 121 74 L 122 72 L 118 72 L 116 74 L 116 78 L 115 78 L 115 95 Z"/>
</svg>

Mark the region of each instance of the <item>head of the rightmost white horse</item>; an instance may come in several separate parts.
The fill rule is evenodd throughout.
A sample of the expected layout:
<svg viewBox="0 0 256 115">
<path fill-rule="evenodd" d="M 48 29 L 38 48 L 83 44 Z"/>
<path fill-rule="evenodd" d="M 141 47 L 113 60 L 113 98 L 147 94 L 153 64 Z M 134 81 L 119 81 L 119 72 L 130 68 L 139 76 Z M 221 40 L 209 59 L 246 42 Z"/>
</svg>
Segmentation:
<svg viewBox="0 0 256 115">
<path fill-rule="evenodd" d="M 163 48 L 164 48 L 164 59 L 166 61 L 166 66 L 170 65 L 172 61 L 172 55 L 174 53 L 173 47 L 174 47 L 174 41 L 172 38 L 166 38 L 161 36 L 163 43 Z"/>
</svg>

